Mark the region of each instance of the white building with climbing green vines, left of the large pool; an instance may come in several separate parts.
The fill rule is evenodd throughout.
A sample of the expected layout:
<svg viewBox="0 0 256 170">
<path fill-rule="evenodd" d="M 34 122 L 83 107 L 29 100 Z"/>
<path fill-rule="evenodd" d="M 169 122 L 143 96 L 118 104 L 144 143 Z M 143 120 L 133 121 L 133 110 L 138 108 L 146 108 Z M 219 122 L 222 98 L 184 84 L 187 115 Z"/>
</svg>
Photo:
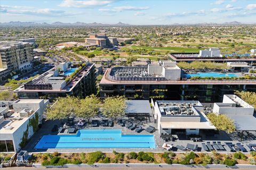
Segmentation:
<svg viewBox="0 0 256 170">
<path fill-rule="evenodd" d="M 0 101 L 0 152 L 18 152 L 41 126 L 49 100 Z"/>
</svg>

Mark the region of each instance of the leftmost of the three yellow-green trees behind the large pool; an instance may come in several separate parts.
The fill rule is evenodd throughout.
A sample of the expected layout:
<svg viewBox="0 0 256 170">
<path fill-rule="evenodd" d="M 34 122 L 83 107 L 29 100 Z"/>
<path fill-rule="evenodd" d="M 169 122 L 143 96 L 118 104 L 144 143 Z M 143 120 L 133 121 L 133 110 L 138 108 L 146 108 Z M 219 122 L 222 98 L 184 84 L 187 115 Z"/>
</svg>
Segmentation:
<svg viewBox="0 0 256 170">
<path fill-rule="evenodd" d="M 67 96 L 66 98 L 59 97 L 52 107 L 47 108 L 46 118 L 48 120 L 60 120 L 68 118 L 78 110 L 78 98 Z"/>
</svg>

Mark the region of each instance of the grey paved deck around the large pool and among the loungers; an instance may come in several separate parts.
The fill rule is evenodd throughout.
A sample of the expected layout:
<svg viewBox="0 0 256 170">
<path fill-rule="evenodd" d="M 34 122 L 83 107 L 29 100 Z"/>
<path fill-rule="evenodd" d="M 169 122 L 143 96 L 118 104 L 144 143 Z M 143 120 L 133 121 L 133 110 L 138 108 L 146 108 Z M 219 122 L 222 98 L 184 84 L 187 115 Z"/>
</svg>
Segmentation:
<svg viewBox="0 0 256 170">
<path fill-rule="evenodd" d="M 153 122 L 152 117 L 150 117 L 151 120 L 150 122 L 146 122 L 146 121 L 132 121 L 134 123 L 137 123 L 137 125 L 141 125 L 143 126 L 143 129 L 146 129 L 149 125 L 154 126 L 155 128 L 157 128 L 157 124 Z M 131 119 L 130 119 L 131 120 Z M 91 127 L 91 125 L 87 125 L 84 126 L 83 129 L 122 129 L 122 134 L 153 134 L 154 138 L 155 138 L 155 143 L 156 143 L 156 148 L 154 149 L 150 149 L 150 148 L 115 148 L 115 149 L 106 149 L 106 148 L 82 148 L 82 149 L 34 149 L 36 143 L 42 138 L 43 135 L 47 135 L 47 134 L 58 134 L 58 132 L 51 132 L 51 129 L 53 128 L 53 126 L 57 124 L 58 126 L 60 126 L 60 122 L 59 121 L 46 121 L 46 123 L 43 124 L 42 128 L 33 135 L 33 137 L 31 137 L 31 139 L 29 140 L 28 145 L 23 148 L 22 150 L 27 150 L 29 153 L 31 152 L 54 152 L 54 151 L 58 151 L 58 152 L 93 152 L 93 151 L 102 151 L 102 152 L 113 152 L 113 150 L 118 151 L 118 152 L 131 152 L 131 151 L 135 151 L 135 152 L 139 152 L 139 151 L 150 151 L 150 152 L 164 152 L 166 150 L 164 150 L 162 148 L 163 143 L 169 143 L 169 144 L 173 144 L 174 147 L 177 145 L 180 146 L 187 146 L 187 143 L 191 143 L 191 144 L 197 144 L 198 145 L 198 152 L 205 152 L 205 150 L 202 147 L 202 143 L 206 143 L 207 141 L 210 141 L 212 143 L 212 141 L 221 141 L 222 145 L 224 145 L 224 142 L 233 142 L 234 144 L 241 142 L 239 141 L 238 137 L 236 134 L 232 134 L 232 135 L 227 135 L 225 132 L 220 132 L 220 134 L 218 135 L 217 138 L 209 138 L 209 137 L 205 137 L 205 134 L 201 134 L 202 135 L 202 139 L 203 142 L 193 142 L 191 140 L 187 140 L 184 137 L 177 137 L 178 139 L 175 141 L 170 141 L 170 142 L 164 142 L 164 140 L 162 138 L 159 137 L 159 133 L 158 130 L 156 129 L 153 133 L 149 133 L 146 132 L 145 130 L 141 131 L 140 133 L 137 133 L 135 131 L 129 130 L 126 127 L 122 127 L 118 124 L 115 124 L 113 127 Z M 67 130 L 66 130 L 67 131 Z M 67 133 L 60 133 L 60 134 L 67 134 Z M 256 139 L 246 139 L 244 141 L 242 141 L 243 145 L 247 145 L 250 143 L 256 143 Z M 230 152 L 230 149 L 226 146 L 224 146 L 226 151 L 218 151 L 218 152 Z M 181 150 L 173 150 L 175 152 L 183 152 Z"/>
</svg>

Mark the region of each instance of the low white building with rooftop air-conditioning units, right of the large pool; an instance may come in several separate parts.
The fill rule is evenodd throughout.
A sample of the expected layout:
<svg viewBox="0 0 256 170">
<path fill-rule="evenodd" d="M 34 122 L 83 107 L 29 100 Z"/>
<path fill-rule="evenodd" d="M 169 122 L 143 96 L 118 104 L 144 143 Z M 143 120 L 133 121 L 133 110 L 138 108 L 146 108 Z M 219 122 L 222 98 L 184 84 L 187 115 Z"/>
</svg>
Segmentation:
<svg viewBox="0 0 256 170">
<path fill-rule="evenodd" d="M 216 130 L 199 101 L 157 100 L 151 104 L 160 135 L 199 135 L 200 131 Z"/>
</svg>

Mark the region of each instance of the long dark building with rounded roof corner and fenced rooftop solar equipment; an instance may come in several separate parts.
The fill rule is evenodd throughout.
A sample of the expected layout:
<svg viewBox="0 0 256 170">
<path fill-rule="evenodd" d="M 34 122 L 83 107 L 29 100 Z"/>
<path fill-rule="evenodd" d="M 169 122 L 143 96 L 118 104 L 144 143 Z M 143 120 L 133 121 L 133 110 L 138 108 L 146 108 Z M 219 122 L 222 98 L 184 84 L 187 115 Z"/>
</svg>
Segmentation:
<svg viewBox="0 0 256 170">
<path fill-rule="evenodd" d="M 129 99 L 222 101 L 234 90 L 256 91 L 256 80 L 191 80 L 175 62 L 148 67 L 114 67 L 100 82 L 100 97 L 125 95 Z"/>
</svg>

